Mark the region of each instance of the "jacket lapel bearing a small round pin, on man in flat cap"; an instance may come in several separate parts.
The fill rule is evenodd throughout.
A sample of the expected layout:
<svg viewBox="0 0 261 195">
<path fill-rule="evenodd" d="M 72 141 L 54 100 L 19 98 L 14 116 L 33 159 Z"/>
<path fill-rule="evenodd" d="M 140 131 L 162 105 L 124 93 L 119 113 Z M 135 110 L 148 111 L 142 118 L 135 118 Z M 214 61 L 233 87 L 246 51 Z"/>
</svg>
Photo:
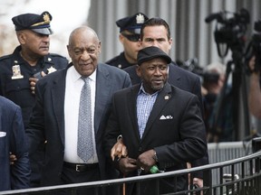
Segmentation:
<svg viewBox="0 0 261 195">
<path fill-rule="evenodd" d="M 148 135 L 150 132 L 151 125 L 155 122 L 155 120 L 159 120 L 161 110 L 166 106 L 169 99 L 171 98 L 171 88 L 169 83 L 166 83 L 165 87 L 160 91 L 158 94 L 158 97 L 155 101 L 154 106 L 152 107 L 152 110 L 150 112 L 150 116 L 147 121 L 147 125 L 144 130 L 144 134 L 142 136 L 142 140 Z"/>
</svg>

